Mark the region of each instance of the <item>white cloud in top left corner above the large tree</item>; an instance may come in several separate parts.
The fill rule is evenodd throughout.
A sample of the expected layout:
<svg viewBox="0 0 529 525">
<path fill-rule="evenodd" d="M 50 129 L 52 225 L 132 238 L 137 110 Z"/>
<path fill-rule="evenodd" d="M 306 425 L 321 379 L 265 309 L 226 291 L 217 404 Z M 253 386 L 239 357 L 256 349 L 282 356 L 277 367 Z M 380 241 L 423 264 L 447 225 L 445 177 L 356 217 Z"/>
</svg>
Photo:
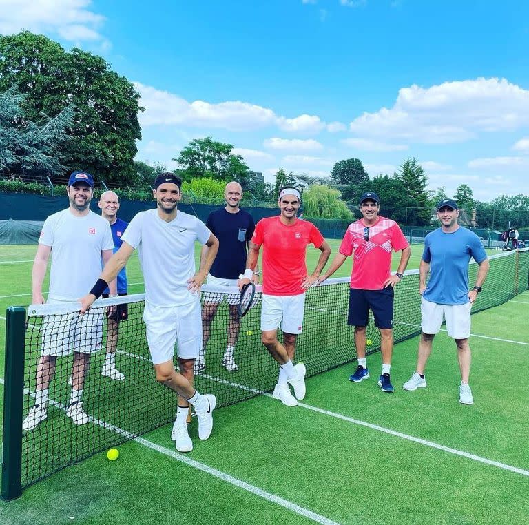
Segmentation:
<svg viewBox="0 0 529 525">
<path fill-rule="evenodd" d="M 29 30 L 109 45 L 98 31 L 105 17 L 90 10 L 91 5 L 92 0 L 0 0 L 0 34 Z"/>
</svg>

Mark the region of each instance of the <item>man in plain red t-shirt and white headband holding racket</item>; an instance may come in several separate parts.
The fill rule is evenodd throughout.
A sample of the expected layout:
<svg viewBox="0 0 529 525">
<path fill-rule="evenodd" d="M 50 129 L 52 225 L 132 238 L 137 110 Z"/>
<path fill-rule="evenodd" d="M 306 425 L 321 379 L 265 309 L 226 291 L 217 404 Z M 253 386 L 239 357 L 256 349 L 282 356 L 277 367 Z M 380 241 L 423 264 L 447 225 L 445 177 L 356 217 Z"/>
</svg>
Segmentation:
<svg viewBox="0 0 529 525">
<path fill-rule="evenodd" d="M 287 406 L 295 406 L 305 397 L 305 365 L 293 365 L 295 340 L 303 324 L 305 292 L 318 281 L 331 247 L 318 228 L 307 220 L 297 218 L 301 196 L 298 189 L 284 187 L 279 192 L 280 215 L 260 220 L 251 238 L 244 276 L 239 287 L 253 276 L 260 247 L 262 254 L 262 343 L 279 363 L 278 384 L 273 398 Z M 322 253 L 311 275 L 307 274 L 305 257 L 307 245 L 313 244 Z M 278 328 L 283 332 L 283 344 L 278 341 Z M 294 389 L 291 394 L 289 383 Z"/>
</svg>

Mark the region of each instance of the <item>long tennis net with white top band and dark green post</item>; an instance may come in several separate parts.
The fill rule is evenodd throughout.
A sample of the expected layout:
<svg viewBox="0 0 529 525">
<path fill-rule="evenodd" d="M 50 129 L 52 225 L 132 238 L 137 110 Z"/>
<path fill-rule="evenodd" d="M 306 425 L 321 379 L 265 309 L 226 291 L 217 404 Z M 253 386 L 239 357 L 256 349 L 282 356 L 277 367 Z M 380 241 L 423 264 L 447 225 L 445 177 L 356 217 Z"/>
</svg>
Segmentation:
<svg viewBox="0 0 529 525">
<path fill-rule="evenodd" d="M 473 313 L 500 305 L 528 289 L 529 250 L 498 254 L 490 258 L 490 263 L 484 292 Z M 476 272 L 477 265 L 470 265 L 470 282 L 474 282 Z M 395 342 L 420 333 L 418 284 L 418 271 L 408 271 L 395 288 Z M 329 279 L 320 287 L 307 291 L 304 329 L 298 338 L 296 353 L 296 360 L 307 366 L 307 376 L 356 358 L 352 329 L 346 325 L 348 289 L 349 278 L 339 278 Z M 23 324 L 19 323 L 18 328 L 12 322 L 15 314 L 8 310 L 4 497 L 16 497 L 22 488 L 43 477 L 174 420 L 176 395 L 156 382 L 152 369 L 143 322 L 144 300 L 143 294 L 98 300 L 90 315 L 82 319 L 76 303 L 34 305 L 27 312 L 23 311 Z M 195 378 L 196 389 L 201 393 L 214 393 L 218 406 L 271 391 L 276 384 L 278 365 L 260 340 L 260 288 L 249 313 L 240 320 L 234 351 L 237 371 L 225 369 L 222 356 L 227 342 L 228 302 L 238 301 L 238 290 L 205 285 L 201 300 L 203 305 L 219 301 L 220 304 L 211 324 L 205 369 Z M 116 352 L 116 364 L 125 380 L 101 375 L 108 339 L 106 314 L 111 305 L 127 305 L 128 309 L 127 320 L 120 323 Z M 37 398 L 36 375 L 41 350 L 50 345 L 57 350 L 66 349 L 75 336 L 85 347 L 101 346 L 90 358 L 84 385 L 83 409 L 90 421 L 74 424 L 65 413 L 72 390 L 68 381 L 73 358 L 69 354 L 56 360 L 56 371 L 49 387 L 47 418 L 31 431 L 22 432 L 22 420 Z M 378 351 L 380 334 L 372 319 L 367 337 L 368 353 Z"/>
</svg>

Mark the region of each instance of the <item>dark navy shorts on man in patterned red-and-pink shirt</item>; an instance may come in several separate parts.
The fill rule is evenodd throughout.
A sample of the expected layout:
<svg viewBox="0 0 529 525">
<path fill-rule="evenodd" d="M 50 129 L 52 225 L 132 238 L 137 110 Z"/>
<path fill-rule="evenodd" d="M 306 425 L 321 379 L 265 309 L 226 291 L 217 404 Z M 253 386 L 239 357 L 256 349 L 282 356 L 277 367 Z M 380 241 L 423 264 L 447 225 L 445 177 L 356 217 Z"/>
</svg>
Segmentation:
<svg viewBox="0 0 529 525">
<path fill-rule="evenodd" d="M 393 287 L 382 290 L 349 290 L 349 316 L 347 324 L 366 327 L 369 309 L 373 312 L 377 328 L 393 328 Z"/>
</svg>

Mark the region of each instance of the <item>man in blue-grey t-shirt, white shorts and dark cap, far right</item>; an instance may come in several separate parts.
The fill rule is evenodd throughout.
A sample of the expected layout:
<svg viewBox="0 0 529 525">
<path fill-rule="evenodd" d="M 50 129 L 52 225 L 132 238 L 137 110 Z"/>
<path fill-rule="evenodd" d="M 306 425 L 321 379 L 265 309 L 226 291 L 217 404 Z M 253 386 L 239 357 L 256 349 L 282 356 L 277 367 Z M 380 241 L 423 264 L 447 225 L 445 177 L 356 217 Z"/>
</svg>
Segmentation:
<svg viewBox="0 0 529 525">
<path fill-rule="evenodd" d="M 424 238 L 424 251 L 419 267 L 421 299 L 421 328 L 417 356 L 417 370 L 404 383 L 404 390 L 426 387 L 424 369 L 432 351 L 432 342 L 441 329 L 443 316 L 448 336 L 455 339 L 457 359 L 461 370 L 459 402 L 473 404 L 468 385 L 470 376 L 470 310 L 481 292 L 489 263 L 479 237 L 457 224 L 459 209 L 455 200 L 445 198 L 437 205 L 441 227 Z M 478 264 L 476 282 L 468 291 L 468 263 L 473 258 Z M 430 280 L 426 285 L 426 277 Z"/>
</svg>

